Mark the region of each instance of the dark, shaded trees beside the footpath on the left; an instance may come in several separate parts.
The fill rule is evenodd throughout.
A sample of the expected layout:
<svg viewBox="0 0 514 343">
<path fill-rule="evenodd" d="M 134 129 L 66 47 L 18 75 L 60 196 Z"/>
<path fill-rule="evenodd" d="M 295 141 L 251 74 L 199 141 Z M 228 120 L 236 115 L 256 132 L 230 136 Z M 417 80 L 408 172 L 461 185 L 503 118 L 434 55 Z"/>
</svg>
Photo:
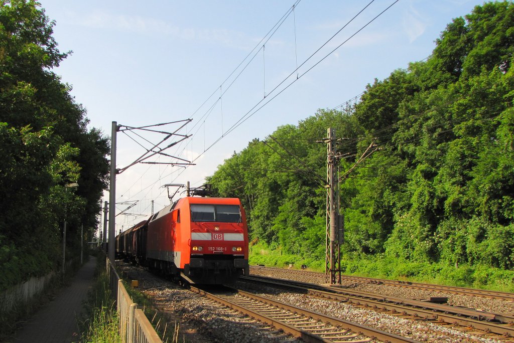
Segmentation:
<svg viewBox="0 0 514 343">
<path fill-rule="evenodd" d="M 0 3 L 0 289 L 56 270 L 65 216 L 77 246 L 106 187 L 108 140 L 51 71 L 68 55 L 53 25 L 34 1 Z"/>
</svg>

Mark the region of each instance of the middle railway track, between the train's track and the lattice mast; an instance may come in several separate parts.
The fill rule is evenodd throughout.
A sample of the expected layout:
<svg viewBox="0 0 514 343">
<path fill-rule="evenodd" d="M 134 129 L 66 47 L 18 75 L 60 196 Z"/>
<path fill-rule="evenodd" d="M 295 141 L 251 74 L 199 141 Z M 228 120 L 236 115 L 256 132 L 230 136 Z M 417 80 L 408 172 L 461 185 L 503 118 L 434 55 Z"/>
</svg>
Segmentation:
<svg viewBox="0 0 514 343">
<path fill-rule="evenodd" d="M 514 337 L 514 316 L 488 313 L 473 309 L 452 307 L 421 300 L 386 297 L 351 289 L 325 287 L 319 284 L 292 280 L 273 279 L 264 276 L 242 277 L 243 281 L 260 282 L 272 287 L 296 289 L 313 296 L 336 299 L 355 306 L 375 311 L 389 311 L 391 314 L 410 316 L 412 319 L 425 319 L 446 324 L 457 324 L 488 333 Z"/>
</svg>

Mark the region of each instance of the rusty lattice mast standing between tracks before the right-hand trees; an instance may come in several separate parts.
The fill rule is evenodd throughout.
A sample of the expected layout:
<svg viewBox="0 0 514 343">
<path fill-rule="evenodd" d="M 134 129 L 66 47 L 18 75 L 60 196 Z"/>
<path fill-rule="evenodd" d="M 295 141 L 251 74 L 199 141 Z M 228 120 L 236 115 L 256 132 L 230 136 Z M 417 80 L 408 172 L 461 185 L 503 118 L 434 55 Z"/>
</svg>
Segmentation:
<svg viewBox="0 0 514 343">
<path fill-rule="evenodd" d="M 339 160 L 337 154 L 335 130 L 327 129 L 326 164 L 326 240 L 325 240 L 325 280 L 331 284 L 341 284 L 341 244 L 344 237 L 342 217 L 339 215 L 337 192 L 339 182 L 336 167 Z"/>
</svg>

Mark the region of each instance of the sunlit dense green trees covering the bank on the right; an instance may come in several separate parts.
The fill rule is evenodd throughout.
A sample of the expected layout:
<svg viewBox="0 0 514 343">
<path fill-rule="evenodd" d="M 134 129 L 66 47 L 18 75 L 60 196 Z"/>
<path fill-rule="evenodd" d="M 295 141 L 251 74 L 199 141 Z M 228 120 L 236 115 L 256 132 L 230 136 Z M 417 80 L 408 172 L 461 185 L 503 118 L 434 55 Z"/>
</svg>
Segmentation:
<svg viewBox="0 0 514 343">
<path fill-rule="evenodd" d="M 333 127 L 341 172 L 380 147 L 340 185 L 346 260 L 512 270 L 513 52 L 512 2 L 476 6 L 426 61 L 375 80 L 352 108 L 253 140 L 209 181 L 244 199 L 253 243 L 324 260 L 326 145 L 315 141 Z"/>
</svg>

